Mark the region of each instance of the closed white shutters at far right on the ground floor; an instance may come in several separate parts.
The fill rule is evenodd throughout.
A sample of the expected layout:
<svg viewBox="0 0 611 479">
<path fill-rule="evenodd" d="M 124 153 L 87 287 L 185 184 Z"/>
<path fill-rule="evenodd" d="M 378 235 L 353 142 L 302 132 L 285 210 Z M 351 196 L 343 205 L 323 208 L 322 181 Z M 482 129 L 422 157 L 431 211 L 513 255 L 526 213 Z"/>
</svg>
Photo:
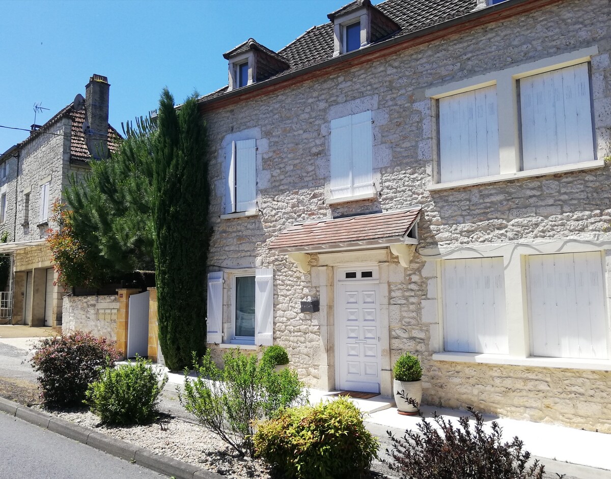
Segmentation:
<svg viewBox="0 0 611 479">
<path fill-rule="evenodd" d="M 599 252 L 529 256 L 533 356 L 608 359 Z"/>
</svg>

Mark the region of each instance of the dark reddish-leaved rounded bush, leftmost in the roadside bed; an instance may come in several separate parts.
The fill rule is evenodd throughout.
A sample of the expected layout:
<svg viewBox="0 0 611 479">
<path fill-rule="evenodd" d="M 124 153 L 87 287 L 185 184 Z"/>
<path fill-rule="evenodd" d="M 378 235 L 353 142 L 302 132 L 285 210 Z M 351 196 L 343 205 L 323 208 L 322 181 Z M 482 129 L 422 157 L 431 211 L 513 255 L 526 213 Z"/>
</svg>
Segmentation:
<svg viewBox="0 0 611 479">
<path fill-rule="evenodd" d="M 53 406 L 81 404 L 89 383 L 120 357 L 113 342 L 82 331 L 44 338 L 35 348 L 31 362 L 38 371 L 40 397 Z"/>
</svg>

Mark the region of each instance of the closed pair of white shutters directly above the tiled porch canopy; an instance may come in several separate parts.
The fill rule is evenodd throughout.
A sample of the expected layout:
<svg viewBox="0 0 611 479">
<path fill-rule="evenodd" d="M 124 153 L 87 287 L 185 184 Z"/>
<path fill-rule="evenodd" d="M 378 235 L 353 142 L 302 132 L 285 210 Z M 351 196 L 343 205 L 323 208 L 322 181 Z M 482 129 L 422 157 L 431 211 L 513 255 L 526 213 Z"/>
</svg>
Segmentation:
<svg viewBox="0 0 611 479">
<path fill-rule="evenodd" d="M 371 111 L 331 120 L 329 126 L 331 199 L 375 195 Z"/>
</svg>

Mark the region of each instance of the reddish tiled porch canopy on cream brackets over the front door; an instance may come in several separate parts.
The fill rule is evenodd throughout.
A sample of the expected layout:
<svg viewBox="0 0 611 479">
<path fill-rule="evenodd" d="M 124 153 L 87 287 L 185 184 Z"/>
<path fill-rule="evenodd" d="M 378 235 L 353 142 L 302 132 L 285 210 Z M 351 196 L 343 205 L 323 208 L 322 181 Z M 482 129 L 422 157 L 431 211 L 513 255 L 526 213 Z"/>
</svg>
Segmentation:
<svg viewBox="0 0 611 479">
<path fill-rule="evenodd" d="M 309 270 L 306 266 L 309 253 L 383 247 L 390 247 L 406 266 L 403 257 L 408 254 L 408 245 L 418 243 L 420 210 L 411 208 L 296 224 L 274 238 L 269 249 L 288 254 L 302 271 Z"/>
</svg>

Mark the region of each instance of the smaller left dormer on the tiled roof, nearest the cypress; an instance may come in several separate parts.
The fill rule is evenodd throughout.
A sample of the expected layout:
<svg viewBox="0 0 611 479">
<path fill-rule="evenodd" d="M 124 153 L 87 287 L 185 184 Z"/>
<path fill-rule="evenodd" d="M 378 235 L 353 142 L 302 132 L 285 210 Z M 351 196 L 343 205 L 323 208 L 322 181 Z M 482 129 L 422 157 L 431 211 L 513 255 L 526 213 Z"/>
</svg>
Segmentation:
<svg viewBox="0 0 611 479">
<path fill-rule="evenodd" d="M 264 81 L 290 67 L 282 55 L 257 43 L 253 38 L 223 56 L 229 60 L 229 90 Z"/>
</svg>

